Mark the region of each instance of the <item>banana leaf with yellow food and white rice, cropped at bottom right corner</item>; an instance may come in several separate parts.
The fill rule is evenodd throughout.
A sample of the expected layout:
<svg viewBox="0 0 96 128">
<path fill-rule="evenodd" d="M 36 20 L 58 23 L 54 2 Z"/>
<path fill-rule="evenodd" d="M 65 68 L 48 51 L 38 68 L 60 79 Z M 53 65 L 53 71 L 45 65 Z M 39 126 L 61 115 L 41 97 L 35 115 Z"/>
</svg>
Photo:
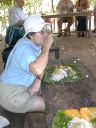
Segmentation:
<svg viewBox="0 0 96 128">
<path fill-rule="evenodd" d="M 58 110 L 52 128 L 96 128 L 96 108 Z"/>
</svg>

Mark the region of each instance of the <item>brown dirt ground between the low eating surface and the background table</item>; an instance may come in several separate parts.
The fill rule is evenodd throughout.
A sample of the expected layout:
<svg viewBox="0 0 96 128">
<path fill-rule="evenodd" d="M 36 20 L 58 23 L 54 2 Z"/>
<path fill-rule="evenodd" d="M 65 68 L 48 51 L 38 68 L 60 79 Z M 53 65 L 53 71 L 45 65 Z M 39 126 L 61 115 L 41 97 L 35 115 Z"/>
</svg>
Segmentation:
<svg viewBox="0 0 96 128">
<path fill-rule="evenodd" d="M 78 57 L 96 77 L 96 34 L 82 38 L 73 33 L 67 37 L 55 37 L 55 42 L 60 47 L 60 59 Z"/>
</svg>

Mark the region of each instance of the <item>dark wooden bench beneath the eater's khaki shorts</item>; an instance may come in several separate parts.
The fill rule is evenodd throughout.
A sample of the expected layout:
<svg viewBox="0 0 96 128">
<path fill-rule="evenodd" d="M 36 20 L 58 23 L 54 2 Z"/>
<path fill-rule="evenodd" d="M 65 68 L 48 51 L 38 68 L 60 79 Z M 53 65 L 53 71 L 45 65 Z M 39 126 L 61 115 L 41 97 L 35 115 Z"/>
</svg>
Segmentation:
<svg viewBox="0 0 96 128">
<path fill-rule="evenodd" d="M 0 106 L 0 115 L 10 122 L 10 125 L 4 128 L 48 128 L 45 111 L 12 113 Z"/>
</svg>

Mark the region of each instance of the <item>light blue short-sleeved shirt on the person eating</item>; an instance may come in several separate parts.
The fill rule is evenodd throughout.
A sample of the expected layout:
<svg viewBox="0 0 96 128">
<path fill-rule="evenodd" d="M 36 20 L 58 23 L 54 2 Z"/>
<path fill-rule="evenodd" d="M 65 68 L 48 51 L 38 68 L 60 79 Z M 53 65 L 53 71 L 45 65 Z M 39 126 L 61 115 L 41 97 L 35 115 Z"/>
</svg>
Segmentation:
<svg viewBox="0 0 96 128">
<path fill-rule="evenodd" d="M 40 53 L 40 45 L 32 43 L 28 38 L 21 38 L 8 57 L 0 81 L 30 87 L 36 76 L 30 72 L 29 64 L 34 62 Z"/>
</svg>

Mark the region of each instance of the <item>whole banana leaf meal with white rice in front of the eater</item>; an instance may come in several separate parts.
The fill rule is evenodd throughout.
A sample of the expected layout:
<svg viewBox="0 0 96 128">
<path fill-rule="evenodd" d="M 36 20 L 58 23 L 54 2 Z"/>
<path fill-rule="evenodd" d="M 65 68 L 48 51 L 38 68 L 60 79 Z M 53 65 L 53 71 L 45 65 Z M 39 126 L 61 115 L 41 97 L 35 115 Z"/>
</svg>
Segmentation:
<svg viewBox="0 0 96 128">
<path fill-rule="evenodd" d="M 43 76 L 44 82 L 59 84 L 74 82 L 81 79 L 84 79 L 84 76 L 74 64 L 48 66 Z"/>
</svg>

